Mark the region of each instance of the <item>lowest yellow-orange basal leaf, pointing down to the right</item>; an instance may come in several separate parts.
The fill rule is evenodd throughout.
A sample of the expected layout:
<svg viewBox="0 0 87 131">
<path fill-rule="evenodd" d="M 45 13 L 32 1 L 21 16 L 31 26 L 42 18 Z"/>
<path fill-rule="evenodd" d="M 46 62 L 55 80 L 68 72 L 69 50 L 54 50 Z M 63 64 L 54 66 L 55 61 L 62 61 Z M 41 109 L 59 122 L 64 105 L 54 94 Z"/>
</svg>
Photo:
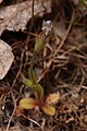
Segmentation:
<svg viewBox="0 0 87 131">
<path fill-rule="evenodd" d="M 42 110 L 45 114 L 49 116 L 54 116 L 55 115 L 55 108 L 52 105 L 45 105 L 42 107 Z"/>
</svg>

